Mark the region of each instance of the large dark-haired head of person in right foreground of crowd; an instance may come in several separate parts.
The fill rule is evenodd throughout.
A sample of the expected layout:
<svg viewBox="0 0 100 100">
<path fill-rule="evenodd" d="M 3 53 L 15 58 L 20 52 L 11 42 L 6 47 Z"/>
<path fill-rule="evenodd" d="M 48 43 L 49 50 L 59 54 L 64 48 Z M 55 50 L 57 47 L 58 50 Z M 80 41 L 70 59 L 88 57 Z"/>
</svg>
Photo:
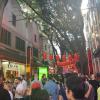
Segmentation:
<svg viewBox="0 0 100 100">
<path fill-rule="evenodd" d="M 87 87 L 81 77 L 68 77 L 66 87 L 66 94 L 68 100 L 85 100 L 84 96 L 87 92 Z"/>
</svg>

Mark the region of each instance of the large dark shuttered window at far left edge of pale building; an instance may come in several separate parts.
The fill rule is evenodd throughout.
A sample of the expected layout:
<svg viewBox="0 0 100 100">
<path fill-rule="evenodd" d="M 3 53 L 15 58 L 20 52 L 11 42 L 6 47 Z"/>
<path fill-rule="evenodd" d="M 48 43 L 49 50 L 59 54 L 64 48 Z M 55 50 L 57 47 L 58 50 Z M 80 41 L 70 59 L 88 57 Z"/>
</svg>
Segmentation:
<svg viewBox="0 0 100 100">
<path fill-rule="evenodd" d="M 0 42 L 11 46 L 11 33 L 4 28 L 1 31 Z"/>
</svg>

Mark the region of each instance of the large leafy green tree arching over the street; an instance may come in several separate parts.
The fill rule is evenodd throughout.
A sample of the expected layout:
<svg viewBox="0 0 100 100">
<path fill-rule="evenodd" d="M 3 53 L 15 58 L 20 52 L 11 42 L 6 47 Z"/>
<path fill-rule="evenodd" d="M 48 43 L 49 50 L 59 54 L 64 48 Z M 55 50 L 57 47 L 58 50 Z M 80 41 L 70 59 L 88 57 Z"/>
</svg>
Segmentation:
<svg viewBox="0 0 100 100">
<path fill-rule="evenodd" d="M 54 43 L 64 52 L 78 52 L 81 65 L 86 62 L 81 0 L 18 0 L 29 11 L 24 15 L 33 19 L 47 35 L 54 52 Z M 83 70 L 83 67 L 82 67 Z"/>
</svg>

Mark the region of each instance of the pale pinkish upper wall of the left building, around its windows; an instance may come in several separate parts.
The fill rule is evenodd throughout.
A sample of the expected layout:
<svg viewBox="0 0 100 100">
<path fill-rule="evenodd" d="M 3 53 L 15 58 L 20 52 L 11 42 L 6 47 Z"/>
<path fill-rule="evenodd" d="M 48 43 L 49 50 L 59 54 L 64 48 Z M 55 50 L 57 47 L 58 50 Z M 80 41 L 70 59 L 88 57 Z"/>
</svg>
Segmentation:
<svg viewBox="0 0 100 100">
<path fill-rule="evenodd" d="M 13 14 L 16 16 L 16 26 L 12 25 Z M 27 51 L 28 46 L 41 50 L 41 39 L 37 25 L 34 22 L 26 22 L 16 0 L 8 0 L 4 9 L 2 27 L 11 33 L 11 46 L 0 42 L 2 46 L 19 51 L 23 55 L 26 55 L 25 51 Z M 25 51 L 16 49 L 16 36 L 25 41 Z"/>
</svg>

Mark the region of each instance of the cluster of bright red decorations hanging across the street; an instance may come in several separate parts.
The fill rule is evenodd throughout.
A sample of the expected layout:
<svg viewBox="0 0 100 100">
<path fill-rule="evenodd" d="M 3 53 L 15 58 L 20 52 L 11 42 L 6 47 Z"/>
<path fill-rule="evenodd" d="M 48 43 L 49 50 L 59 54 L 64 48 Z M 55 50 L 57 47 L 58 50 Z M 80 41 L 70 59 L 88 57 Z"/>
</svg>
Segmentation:
<svg viewBox="0 0 100 100">
<path fill-rule="evenodd" d="M 66 54 L 63 54 L 61 58 L 59 55 L 56 55 L 55 58 L 56 58 L 55 65 L 63 68 L 73 69 L 73 70 L 77 69 L 76 63 L 80 59 L 78 53 L 74 53 L 74 54 L 70 53 L 68 57 L 66 57 Z M 43 59 L 52 61 L 54 59 L 54 56 L 52 54 L 47 55 L 46 52 L 43 52 Z"/>
</svg>

